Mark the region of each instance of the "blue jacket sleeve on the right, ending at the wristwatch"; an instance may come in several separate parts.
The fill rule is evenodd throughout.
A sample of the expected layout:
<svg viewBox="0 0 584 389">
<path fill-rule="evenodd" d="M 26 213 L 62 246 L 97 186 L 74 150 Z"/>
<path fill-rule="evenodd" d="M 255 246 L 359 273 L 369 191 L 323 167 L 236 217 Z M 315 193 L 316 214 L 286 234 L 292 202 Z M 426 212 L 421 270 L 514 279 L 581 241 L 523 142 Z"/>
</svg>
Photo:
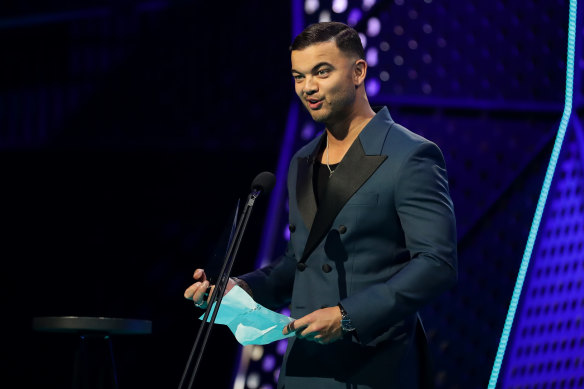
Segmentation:
<svg viewBox="0 0 584 389">
<path fill-rule="evenodd" d="M 438 146 L 421 143 L 403 160 L 394 196 L 410 260 L 386 282 L 341 302 L 363 343 L 414 314 L 457 281 L 454 207 Z"/>
</svg>

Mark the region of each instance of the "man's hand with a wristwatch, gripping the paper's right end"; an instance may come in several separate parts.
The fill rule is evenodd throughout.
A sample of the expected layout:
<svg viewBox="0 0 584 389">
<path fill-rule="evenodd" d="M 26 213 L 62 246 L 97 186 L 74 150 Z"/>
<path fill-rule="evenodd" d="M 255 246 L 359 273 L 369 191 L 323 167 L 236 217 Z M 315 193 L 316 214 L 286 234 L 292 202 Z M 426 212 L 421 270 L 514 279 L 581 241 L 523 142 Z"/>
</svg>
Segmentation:
<svg viewBox="0 0 584 389">
<path fill-rule="evenodd" d="M 336 342 L 343 337 L 341 310 L 339 307 L 314 311 L 284 327 L 282 333 L 296 332 L 298 338 L 312 340 L 320 344 Z"/>
</svg>

